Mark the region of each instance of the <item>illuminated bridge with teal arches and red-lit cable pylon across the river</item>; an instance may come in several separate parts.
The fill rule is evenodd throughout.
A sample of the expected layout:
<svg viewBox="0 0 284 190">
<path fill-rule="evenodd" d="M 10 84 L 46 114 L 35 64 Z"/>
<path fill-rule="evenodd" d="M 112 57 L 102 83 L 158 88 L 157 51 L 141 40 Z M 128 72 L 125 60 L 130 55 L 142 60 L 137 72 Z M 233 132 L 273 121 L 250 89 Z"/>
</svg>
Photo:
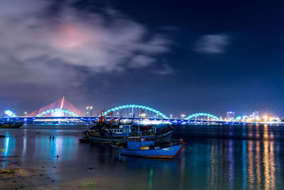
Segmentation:
<svg viewBox="0 0 284 190">
<path fill-rule="evenodd" d="M 17 120 L 26 120 L 27 122 L 33 122 L 35 120 L 80 120 L 92 123 L 99 120 L 99 116 L 84 116 L 84 113 L 77 109 L 77 107 L 72 105 L 72 103 L 67 101 L 65 97 L 62 97 L 60 100 L 46 105 L 45 107 L 41 107 L 37 111 L 31 112 L 30 114 L 26 115 L 26 117 L 16 117 L 16 115 L 10 110 L 6 111 L 6 115 L 14 117 Z M 220 120 L 219 117 L 206 112 L 198 112 L 192 115 L 188 115 L 187 117 L 184 117 L 182 119 L 172 119 L 163 114 L 163 112 L 145 105 L 120 105 L 103 112 L 102 115 L 107 120 L 157 120 L 175 124 L 226 123 Z M 234 120 L 231 123 L 240 123 L 240 121 Z"/>
</svg>

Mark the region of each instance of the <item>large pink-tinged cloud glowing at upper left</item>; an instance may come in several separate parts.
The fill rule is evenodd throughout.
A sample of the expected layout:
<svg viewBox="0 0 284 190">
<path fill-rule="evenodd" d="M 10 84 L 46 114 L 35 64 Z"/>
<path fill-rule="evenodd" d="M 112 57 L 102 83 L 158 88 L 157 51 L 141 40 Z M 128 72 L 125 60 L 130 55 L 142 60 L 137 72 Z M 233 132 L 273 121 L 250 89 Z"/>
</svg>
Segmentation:
<svg viewBox="0 0 284 190">
<path fill-rule="evenodd" d="M 169 51 L 167 38 L 115 9 L 104 10 L 106 19 L 71 3 L 65 1 L 53 15 L 46 14 L 51 5 L 47 0 L 1 2 L 0 80 L 19 75 L 6 84 L 77 88 L 84 82 L 79 68 L 121 73 L 151 67 L 156 56 Z"/>
</svg>

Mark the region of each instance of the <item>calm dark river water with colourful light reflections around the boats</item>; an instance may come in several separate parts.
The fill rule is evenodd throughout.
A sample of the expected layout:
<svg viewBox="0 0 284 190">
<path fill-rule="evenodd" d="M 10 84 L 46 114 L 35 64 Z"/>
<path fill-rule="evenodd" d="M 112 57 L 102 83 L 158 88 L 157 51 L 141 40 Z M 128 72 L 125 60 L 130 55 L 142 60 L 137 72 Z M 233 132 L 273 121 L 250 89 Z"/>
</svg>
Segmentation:
<svg viewBox="0 0 284 190">
<path fill-rule="evenodd" d="M 95 189 L 284 189 L 284 126 L 176 126 L 173 137 L 184 139 L 187 147 L 169 161 L 125 157 L 107 145 L 80 144 L 85 129 L 0 130 L 9 136 L 0 139 L 5 149 L 0 154 L 18 155 L 9 162 L 44 174 L 35 175 L 34 183 L 54 189 L 83 189 L 94 182 Z"/>
</svg>

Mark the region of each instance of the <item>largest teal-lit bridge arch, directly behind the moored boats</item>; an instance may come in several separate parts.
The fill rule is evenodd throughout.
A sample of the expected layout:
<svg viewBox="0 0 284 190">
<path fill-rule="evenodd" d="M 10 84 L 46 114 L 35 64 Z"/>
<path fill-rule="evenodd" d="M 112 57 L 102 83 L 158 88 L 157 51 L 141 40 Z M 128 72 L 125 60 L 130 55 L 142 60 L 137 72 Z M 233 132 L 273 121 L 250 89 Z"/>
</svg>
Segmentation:
<svg viewBox="0 0 284 190">
<path fill-rule="evenodd" d="M 121 105 L 119 107 L 114 107 L 110 110 L 107 110 L 107 112 L 104 112 L 103 116 L 107 116 L 113 113 L 114 117 L 118 115 L 124 115 L 124 117 L 132 117 L 133 114 L 135 114 L 136 117 L 139 117 L 139 115 L 141 114 L 141 110 L 143 110 L 143 112 L 149 118 L 163 118 L 166 120 L 169 119 L 162 112 L 159 112 L 158 110 L 155 110 L 152 107 L 148 107 L 145 105 Z"/>
</svg>

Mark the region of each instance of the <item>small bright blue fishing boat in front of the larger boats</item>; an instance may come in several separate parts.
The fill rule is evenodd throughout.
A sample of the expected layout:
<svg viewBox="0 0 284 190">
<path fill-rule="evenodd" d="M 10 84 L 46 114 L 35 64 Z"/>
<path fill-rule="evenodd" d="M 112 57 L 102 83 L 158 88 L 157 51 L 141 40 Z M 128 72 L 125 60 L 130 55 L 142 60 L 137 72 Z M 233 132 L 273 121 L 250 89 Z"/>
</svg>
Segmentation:
<svg viewBox="0 0 284 190">
<path fill-rule="evenodd" d="M 129 137 L 126 147 L 119 147 L 119 153 L 133 157 L 173 159 L 185 143 L 155 144 L 155 140 L 144 137 Z"/>
</svg>

